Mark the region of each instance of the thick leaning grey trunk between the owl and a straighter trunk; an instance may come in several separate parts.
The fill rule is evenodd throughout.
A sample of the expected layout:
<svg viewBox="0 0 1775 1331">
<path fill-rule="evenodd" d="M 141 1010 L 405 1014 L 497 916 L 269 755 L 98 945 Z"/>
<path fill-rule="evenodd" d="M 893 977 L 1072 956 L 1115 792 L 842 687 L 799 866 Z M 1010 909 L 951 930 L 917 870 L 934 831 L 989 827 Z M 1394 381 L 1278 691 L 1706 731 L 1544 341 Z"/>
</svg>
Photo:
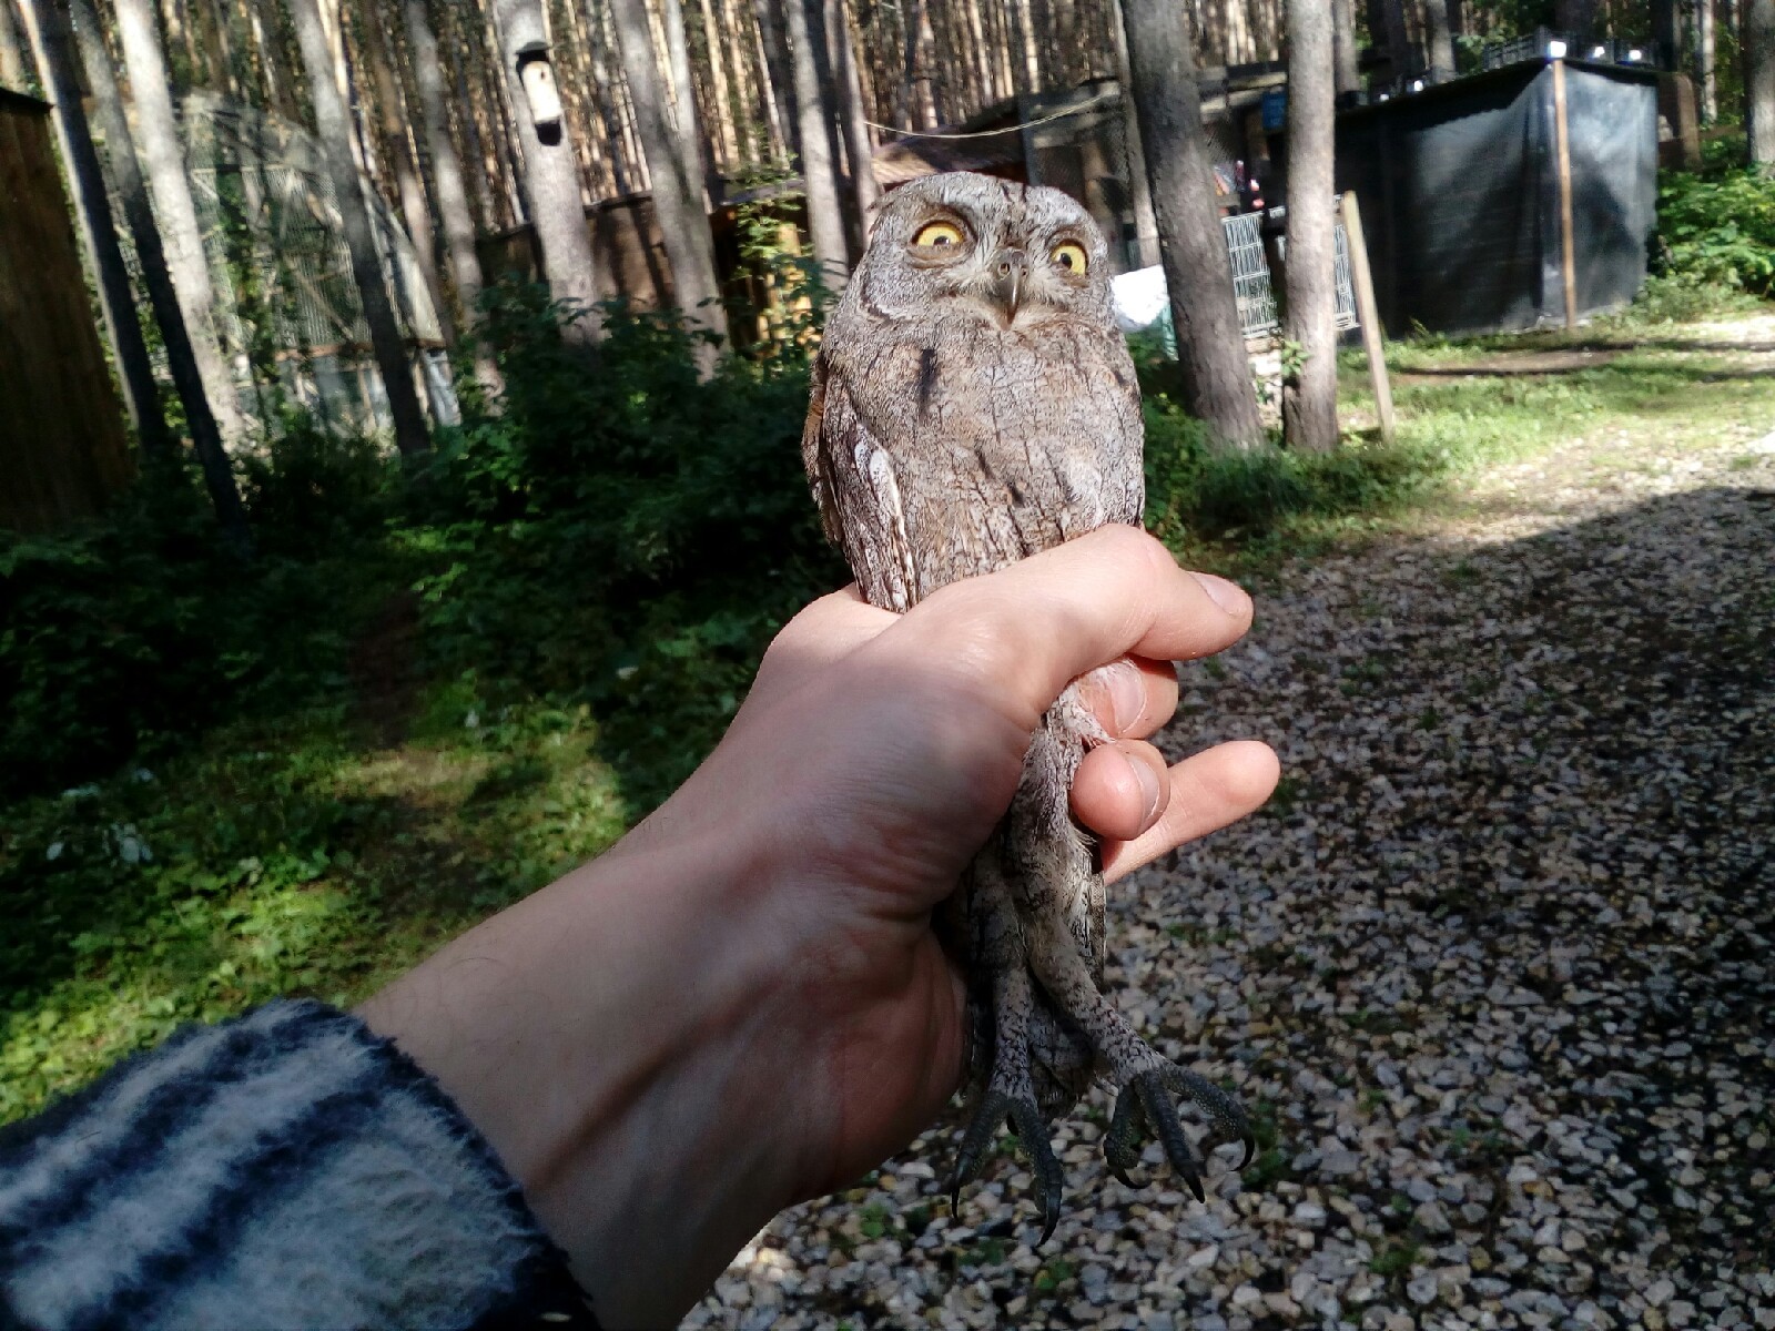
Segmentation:
<svg viewBox="0 0 1775 1331">
<path fill-rule="evenodd" d="M 1239 332 L 1227 232 L 1214 208 L 1191 32 L 1170 0 L 1122 0 L 1122 12 L 1186 406 L 1219 444 L 1251 447 L 1264 426 Z"/>
</svg>

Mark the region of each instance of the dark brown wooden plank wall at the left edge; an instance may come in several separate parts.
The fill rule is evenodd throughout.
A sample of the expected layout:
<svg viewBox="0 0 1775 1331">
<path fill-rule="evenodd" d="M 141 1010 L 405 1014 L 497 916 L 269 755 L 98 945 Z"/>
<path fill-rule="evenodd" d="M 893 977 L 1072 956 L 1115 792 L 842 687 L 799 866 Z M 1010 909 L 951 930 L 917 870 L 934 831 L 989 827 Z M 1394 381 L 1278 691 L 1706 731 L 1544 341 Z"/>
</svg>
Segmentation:
<svg viewBox="0 0 1775 1331">
<path fill-rule="evenodd" d="M 96 513 L 130 476 L 51 140 L 50 108 L 0 89 L 0 525 L 25 532 Z"/>
</svg>

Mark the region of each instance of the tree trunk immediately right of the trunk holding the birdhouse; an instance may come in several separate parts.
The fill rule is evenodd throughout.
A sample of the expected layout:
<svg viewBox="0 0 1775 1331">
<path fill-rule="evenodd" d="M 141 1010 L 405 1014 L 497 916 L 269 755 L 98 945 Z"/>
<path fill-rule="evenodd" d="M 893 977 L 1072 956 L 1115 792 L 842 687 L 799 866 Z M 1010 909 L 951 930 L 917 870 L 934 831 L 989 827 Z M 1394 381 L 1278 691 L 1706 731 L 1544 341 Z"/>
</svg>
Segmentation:
<svg viewBox="0 0 1775 1331">
<path fill-rule="evenodd" d="M 685 169 L 683 153 L 666 121 L 666 89 L 660 85 L 659 59 L 648 32 L 644 0 L 611 0 L 616 20 L 616 44 L 621 48 L 628 99 L 635 108 L 641 151 L 653 179 L 653 213 L 666 238 L 678 309 L 692 328 L 726 341 L 728 312 L 721 305 L 721 280 L 715 277 L 715 241 L 703 211 L 703 190 Z M 699 343 L 698 366 L 714 373 L 719 348 Z"/>
</svg>

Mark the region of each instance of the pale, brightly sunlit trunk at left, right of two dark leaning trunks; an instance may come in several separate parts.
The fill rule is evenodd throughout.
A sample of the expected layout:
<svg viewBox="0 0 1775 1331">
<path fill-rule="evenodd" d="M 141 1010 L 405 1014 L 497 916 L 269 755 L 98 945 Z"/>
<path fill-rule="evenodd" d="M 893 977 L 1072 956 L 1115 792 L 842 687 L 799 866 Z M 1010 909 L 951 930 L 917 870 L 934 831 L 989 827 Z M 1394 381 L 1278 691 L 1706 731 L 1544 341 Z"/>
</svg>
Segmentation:
<svg viewBox="0 0 1775 1331">
<path fill-rule="evenodd" d="M 167 248 L 167 268 L 179 293 L 179 311 L 192 339 L 197 371 L 202 374 L 209 410 L 222 438 L 236 442 L 245 429 L 234 374 L 222 353 L 215 327 L 215 287 L 209 284 L 209 257 L 204 254 L 192 181 L 185 174 L 185 147 L 172 114 L 167 62 L 160 53 L 153 0 L 115 0 L 117 43 L 130 71 L 130 98 L 135 101 L 142 133 L 142 165 L 154 192 L 154 215 Z"/>
</svg>

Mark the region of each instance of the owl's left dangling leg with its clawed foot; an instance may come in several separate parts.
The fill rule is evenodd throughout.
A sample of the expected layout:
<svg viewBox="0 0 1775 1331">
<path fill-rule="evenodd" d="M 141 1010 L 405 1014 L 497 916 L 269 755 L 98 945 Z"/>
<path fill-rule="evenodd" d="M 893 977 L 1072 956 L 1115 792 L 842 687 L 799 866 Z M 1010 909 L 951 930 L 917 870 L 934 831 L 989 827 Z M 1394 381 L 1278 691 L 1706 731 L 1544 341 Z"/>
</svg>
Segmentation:
<svg viewBox="0 0 1775 1331">
<path fill-rule="evenodd" d="M 1037 1107 L 1035 1083 L 1030 1077 L 1030 1017 L 1035 1010 L 1035 994 L 1030 985 L 1022 926 L 994 861 L 990 848 L 976 861 L 969 903 L 976 921 L 976 964 L 990 978 L 992 988 L 992 1072 L 973 1106 L 973 1118 L 955 1155 L 950 1193 L 958 1207 L 962 1187 L 980 1177 L 992 1155 L 998 1125 L 1008 1123 L 1030 1154 L 1030 1170 L 1042 1203 L 1042 1242 L 1047 1242 L 1054 1225 L 1060 1223 L 1061 1173 L 1047 1139 L 1047 1118 Z"/>
</svg>

